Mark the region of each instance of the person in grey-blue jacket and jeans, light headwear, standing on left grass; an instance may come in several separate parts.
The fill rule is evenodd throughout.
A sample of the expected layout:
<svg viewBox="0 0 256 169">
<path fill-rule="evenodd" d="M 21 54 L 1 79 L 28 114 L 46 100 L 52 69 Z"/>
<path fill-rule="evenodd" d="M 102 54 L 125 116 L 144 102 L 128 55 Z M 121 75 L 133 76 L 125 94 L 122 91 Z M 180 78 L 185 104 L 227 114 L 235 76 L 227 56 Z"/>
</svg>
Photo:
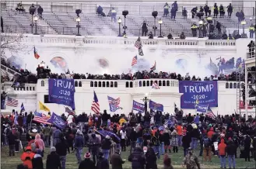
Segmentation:
<svg viewBox="0 0 256 169">
<path fill-rule="evenodd" d="M 82 132 L 78 129 L 75 134 L 75 157 L 77 164 L 81 163 L 82 147 L 84 147 L 85 141 Z"/>
</svg>

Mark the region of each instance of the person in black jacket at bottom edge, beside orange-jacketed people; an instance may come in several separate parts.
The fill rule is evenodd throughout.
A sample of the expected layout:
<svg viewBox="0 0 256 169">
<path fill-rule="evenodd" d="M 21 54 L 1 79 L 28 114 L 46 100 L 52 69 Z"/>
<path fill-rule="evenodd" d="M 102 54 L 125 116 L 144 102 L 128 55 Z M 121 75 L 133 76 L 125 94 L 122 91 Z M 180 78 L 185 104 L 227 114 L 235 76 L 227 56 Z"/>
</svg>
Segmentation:
<svg viewBox="0 0 256 169">
<path fill-rule="evenodd" d="M 51 147 L 51 153 L 47 155 L 46 169 L 61 169 L 60 156 L 56 153 L 55 147 Z"/>
</svg>

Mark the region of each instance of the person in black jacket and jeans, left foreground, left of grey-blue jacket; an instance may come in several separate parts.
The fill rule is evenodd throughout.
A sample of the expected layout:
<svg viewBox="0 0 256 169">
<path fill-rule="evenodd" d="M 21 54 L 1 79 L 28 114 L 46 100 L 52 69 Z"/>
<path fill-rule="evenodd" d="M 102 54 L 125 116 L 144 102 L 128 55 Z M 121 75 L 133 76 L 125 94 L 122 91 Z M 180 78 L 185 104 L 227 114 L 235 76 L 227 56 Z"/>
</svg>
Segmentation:
<svg viewBox="0 0 256 169">
<path fill-rule="evenodd" d="M 62 169 L 66 166 L 66 155 L 67 155 L 68 145 L 63 136 L 61 136 L 61 142 L 56 144 L 56 153 L 60 156 Z"/>
</svg>

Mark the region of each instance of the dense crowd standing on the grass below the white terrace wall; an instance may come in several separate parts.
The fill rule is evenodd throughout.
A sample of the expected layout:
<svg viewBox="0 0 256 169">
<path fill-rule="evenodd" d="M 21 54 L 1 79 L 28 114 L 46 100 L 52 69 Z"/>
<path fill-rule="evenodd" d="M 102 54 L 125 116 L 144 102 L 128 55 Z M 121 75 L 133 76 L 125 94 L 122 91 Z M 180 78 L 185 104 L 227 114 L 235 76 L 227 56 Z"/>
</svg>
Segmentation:
<svg viewBox="0 0 256 169">
<path fill-rule="evenodd" d="M 122 168 L 125 160 L 121 153 L 130 147 L 128 161 L 132 168 L 156 169 L 157 160 L 163 157 L 164 169 L 173 169 L 168 153 L 183 151 L 183 164 L 188 168 L 200 169 L 198 156 L 205 161 L 212 155 L 219 157 L 219 165 L 236 167 L 236 158 L 256 160 L 255 118 L 249 116 L 183 116 L 175 109 L 170 115 L 162 112 L 129 113 L 110 116 L 103 114 L 76 116 L 69 112 L 61 116 L 67 123 L 65 129 L 33 122 L 33 113 L 15 112 L 2 116 L 2 146 L 9 147 L 9 156 L 15 156 L 22 147 L 20 164 L 17 168 L 43 168 L 44 150 L 50 147 L 46 157 L 47 169 L 65 169 L 66 155 L 75 151 L 79 169 Z M 14 116 L 15 115 L 15 116 Z M 51 112 L 48 113 L 51 116 Z M 88 147 L 82 160 L 82 150 Z M 240 149 L 240 156 L 237 150 Z M 86 149 L 87 150 L 87 149 Z M 196 154 L 196 150 L 199 153 Z"/>
</svg>

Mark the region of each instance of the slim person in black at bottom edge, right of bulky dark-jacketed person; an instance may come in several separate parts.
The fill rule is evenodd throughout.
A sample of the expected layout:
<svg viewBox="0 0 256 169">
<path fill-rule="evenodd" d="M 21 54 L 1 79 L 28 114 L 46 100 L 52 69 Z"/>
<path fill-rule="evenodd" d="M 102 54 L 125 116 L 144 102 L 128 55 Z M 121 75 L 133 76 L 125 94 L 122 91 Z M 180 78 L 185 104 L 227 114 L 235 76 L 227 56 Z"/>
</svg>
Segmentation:
<svg viewBox="0 0 256 169">
<path fill-rule="evenodd" d="M 149 148 L 146 151 L 145 157 L 146 157 L 146 169 L 157 169 L 156 164 L 156 153 L 153 150 L 152 143 L 149 143 Z"/>
</svg>

